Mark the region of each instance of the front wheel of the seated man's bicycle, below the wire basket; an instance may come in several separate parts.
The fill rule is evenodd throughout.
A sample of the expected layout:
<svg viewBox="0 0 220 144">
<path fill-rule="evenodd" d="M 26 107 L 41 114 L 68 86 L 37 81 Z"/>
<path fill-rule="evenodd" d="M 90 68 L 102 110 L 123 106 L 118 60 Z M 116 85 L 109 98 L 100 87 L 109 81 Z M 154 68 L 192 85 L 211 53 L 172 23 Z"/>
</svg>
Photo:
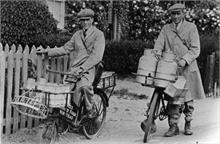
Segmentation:
<svg viewBox="0 0 220 144">
<path fill-rule="evenodd" d="M 57 125 L 55 122 L 47 122 L 41 125 L 39 132 L 39 144 L 55 144 L 58 139 Z"/>
</svg>

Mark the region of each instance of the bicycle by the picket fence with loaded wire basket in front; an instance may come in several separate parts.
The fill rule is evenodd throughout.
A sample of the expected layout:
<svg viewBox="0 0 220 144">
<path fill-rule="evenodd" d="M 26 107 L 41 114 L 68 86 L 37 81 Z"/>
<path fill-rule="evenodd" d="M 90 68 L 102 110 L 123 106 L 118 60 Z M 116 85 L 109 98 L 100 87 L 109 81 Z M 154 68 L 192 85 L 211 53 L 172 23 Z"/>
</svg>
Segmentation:
<svg viewBox="0 0 220 144">
<path fill-rule="evenodd" d="M 84 94 L 81 92 L 79 105 L 71 101 L 76 89 L 76 83 L 88 72 L 73 75 L 46 68 L 47 72 L 67 75 L 68 84 L 45 83 L 45 79 L 38 82 L 28 80 L 28 87 L 23 88 L 24 93 L 15 96 L 12 101 L 21 114 L 40 118 L 42 124 L 39 126 L 39 143 L 53 144 L 59 140 L 59 136 L 66 133 L 68 129 L 80 129 L 86 138 L 92 139 L 100 134 L 106 120 L 109 98 L 116 86 L 116 74 L 101 77 L 103 66 L 99 63 L 98 72 L 93 82 L 96 114 L 88 118 L 85 106 Z M 107 82 L 107 83 L 106 83 Z M 72 85 L 74 84 L 74 87 Z M 71 85 L 71 86 L 70 86 Z M 71 89 L 70 89 L 71 87 Z M 105 90 L 112 88 L 107 96 Z M 59 101 L 57 101 L 59 99 Z M 61 124 L 64 124 L 61 127 Z"/>
</svg>

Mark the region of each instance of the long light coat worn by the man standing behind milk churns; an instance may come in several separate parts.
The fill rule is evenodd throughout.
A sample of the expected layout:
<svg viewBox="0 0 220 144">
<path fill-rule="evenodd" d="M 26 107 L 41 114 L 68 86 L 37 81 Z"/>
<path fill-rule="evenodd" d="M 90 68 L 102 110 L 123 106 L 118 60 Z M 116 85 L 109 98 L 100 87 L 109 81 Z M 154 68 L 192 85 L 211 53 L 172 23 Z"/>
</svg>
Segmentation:
<svg viewBox="0 0 220 144">
<path fill-rule="evenodd" d="M 188 88 L 185 101 L 205 97 L 196 61 L 200 54 L 200 40 L 195 24 L 184 20 L 178 30 L 173 23 L 165 25 L 156 40 L 154 49 L 160 54 L 162 51 L 173 51 L 177 56 L 177 60 L 184 59 L 186 61 L 186 66 L 182 71 L 183 76 L 186 78 L 185 87 Z"/>
</svg>

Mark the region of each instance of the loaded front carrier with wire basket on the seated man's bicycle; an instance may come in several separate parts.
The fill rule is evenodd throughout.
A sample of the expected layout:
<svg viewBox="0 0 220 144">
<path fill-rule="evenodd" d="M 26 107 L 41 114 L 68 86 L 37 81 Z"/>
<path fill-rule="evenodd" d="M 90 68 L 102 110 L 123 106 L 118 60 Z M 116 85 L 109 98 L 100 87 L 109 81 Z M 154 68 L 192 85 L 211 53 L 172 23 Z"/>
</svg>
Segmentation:
<svg viewBox="0 0 220 144">
<path fill-rule="evenodd" d="M 49 108 L 62 108 L 70 103 L 70 85 L 28 79 L 24 90 L 22 95 L 14 97 L 11 105 L 30 117 L 45 119 Z"/>
</svg>

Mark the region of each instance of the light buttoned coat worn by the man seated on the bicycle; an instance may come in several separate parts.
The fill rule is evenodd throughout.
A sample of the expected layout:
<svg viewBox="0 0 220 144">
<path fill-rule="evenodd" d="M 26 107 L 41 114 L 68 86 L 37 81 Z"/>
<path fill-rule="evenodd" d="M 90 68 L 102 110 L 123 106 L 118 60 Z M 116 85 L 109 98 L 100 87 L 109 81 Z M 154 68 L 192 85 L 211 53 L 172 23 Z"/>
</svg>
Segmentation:
<svg viewBox="0 0 220 144">
<path fill-rule="evenodd" d="M 102 31 L 92 26 L 88 29 L 86 37 L 83 35 L 83 31 L 77 31 L 70 41 L 64 46 L 59 48 L 53 48 L 48 51 L 49 56 L 58 56 L 70 54 L 70 66 L 72 72 L 74 72 L 74 64 L 86 57 L 86 60 L 80 65 L 84 70 L 89 70 L 89 74 L 86 75 L 83 85 L 91 85 L 95 75 L 95 65 L 98 64 L 103 57 L 105 49 L 105 38 Z"/>
</svg>

